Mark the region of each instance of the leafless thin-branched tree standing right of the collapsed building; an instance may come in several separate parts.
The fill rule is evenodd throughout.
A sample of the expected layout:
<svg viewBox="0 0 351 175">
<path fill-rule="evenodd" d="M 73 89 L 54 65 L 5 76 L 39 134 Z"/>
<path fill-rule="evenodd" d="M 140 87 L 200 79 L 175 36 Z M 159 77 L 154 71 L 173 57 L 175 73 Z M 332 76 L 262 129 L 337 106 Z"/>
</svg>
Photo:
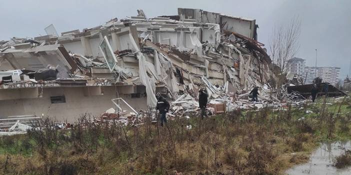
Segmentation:
<svg viewBox="0 0 351 175">
<path fill-rule="evenodd" d="M 294 16 L 289 23 L 275 26 L 269 43 L 270 57 L 286 71 L 287 61 L 293 58 L 299 49 L 298 38 L 300 36 L 301 20 Z"/>
</svg>

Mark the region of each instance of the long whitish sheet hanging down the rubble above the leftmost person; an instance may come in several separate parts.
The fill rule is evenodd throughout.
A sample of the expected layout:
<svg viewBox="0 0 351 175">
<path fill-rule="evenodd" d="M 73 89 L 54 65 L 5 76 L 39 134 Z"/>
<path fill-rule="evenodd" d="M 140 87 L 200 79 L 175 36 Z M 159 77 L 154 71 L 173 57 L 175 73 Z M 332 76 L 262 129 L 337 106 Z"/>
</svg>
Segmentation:
<svg viewBox="0 0 351 175">
<path fill-rule="evenodd" d="M 145 56 L 140 52 L 136 43 L 134 42 L 133 36 L 129 33 L 130 43 L 136 50 L 136 57 L 139 60 L 139 77 L 141 83 L 145 86 L 147 95 L 147 106 L 156 107 L 157 99 L 155 97 L 155 80 L 147 75 L 146 59 Z"/>
</svg>

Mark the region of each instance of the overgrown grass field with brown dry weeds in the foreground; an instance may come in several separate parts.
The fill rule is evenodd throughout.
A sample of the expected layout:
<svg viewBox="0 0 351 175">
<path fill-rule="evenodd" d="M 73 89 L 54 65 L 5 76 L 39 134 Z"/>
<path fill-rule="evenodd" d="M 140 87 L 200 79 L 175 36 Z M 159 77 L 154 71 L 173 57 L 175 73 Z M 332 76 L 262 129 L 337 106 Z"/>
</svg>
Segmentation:
<svg viewBox="0 0 351 175">
<path fill-rule="evenodd" d="M 321 142 L 351 138 L 351 101 L 318 99 L 276 110 L 237 110 L 160 127 L 96 125 L 81 116 L 72 130 L 0 137 L 0 172 L 8 175 L 276 175 L 308 161 Z M 308 111 L 306 113 L 306 111 Z M 192 129 L 186 129 L 191 125 Z"/>
</svg>

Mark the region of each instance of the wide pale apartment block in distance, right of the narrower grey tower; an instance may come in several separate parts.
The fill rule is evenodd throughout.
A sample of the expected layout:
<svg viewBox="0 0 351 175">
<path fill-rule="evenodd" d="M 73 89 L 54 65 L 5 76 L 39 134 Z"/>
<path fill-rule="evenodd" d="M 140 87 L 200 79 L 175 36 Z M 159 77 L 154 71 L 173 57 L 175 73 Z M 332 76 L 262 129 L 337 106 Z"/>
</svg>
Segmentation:
<svg viewBox="0 0 351 175">
<path fill-rule="evenodd" d="M 317 67 L 315 73 L 315 67 L 306 66 L 304 71 L 307 72 L 306 84 L 312 83 L 315 77 L 319 77 L 323 80 L 323 82 L 328 82 L 332 85 L 335 85 L 339 81 L 339 67 Z"/>
</svg>

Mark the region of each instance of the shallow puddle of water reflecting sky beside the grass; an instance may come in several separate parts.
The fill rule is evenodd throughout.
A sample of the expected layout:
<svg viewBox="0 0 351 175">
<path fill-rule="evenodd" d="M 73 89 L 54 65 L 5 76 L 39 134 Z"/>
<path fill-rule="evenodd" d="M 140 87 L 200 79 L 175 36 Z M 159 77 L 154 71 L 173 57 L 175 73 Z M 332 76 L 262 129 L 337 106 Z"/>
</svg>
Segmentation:
<svg viewBox="0 0 351 175">
<path fill-rule="evenodd" d="M 309 158 L 306 164 L 298 165 L 286 171 L 287 175 L 351 175 L 351 168 L 336 169 L 332 160 L 351 150 L 351 142 L 322 144 Z"/>
</svg>

